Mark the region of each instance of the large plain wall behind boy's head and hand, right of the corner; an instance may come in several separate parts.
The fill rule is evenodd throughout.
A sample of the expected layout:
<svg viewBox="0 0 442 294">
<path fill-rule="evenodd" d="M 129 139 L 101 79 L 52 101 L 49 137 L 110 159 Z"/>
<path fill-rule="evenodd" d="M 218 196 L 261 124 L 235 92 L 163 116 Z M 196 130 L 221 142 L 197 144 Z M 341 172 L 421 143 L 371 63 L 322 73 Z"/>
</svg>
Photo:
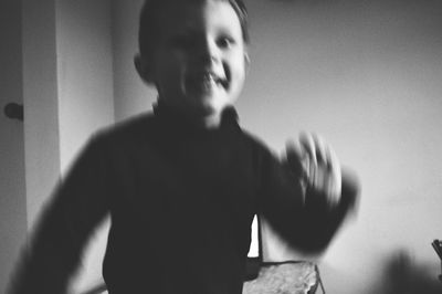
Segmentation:
<svg viewBox="0 0 442 294">
<path fill-rule="evenodd" d="M 131 66 L 139 3 L 118 1 L 114 11 L 118 119 L 155 101 Z M 382 275 L 404 260 L 411 267 L 401 270 L 419 270 L 433 286 L 440 264 L 430 242 L 442 233 L 442 6 L 248 4 L 252 66 L 238 103 L 242 125 L 275 150 L 301 130 L 323 134 L 362 183 L 357 218 L 320 264 L 328 293 L 382 293 L 382 279 L 393 279 Z"/>
</svg>

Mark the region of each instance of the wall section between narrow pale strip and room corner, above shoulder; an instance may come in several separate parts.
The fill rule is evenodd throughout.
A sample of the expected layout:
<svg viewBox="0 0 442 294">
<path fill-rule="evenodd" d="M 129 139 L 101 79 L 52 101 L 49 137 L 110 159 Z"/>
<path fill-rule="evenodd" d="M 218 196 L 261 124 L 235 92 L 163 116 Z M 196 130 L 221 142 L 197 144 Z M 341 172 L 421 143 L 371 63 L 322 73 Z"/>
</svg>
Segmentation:
<svg viewBox="0 0 442 294">
<path fill-rule="evenodd" d="M 61 167 L 91 134 L 114 122 L 108 0 L 56 1 L 56 64 Z"/>
</svg>

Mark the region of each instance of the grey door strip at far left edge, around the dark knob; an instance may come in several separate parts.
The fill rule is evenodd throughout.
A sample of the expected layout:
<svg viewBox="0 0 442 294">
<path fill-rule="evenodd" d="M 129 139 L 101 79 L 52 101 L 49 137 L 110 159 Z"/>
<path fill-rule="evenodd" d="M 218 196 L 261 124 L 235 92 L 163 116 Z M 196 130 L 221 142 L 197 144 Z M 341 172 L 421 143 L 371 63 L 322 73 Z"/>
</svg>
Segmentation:
<svg viewBox="0 0 442 294">
<path fill-rule="evenodd" d="M 23 103 L 21 3 L 0 2 L 0 293 L 27 232 L 23 123 L 3 114 Z"/>
</svg>

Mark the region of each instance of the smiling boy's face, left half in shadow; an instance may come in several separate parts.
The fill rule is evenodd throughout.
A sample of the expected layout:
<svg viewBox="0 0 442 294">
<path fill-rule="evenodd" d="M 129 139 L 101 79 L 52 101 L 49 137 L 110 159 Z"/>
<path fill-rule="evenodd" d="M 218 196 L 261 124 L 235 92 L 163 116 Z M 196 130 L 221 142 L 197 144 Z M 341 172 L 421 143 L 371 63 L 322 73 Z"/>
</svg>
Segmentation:
<svg viewBox="0 0 442 294">
<path fill-rule="evenodd" d="M 249 60 L 240 20 L 227 1 L 173 4 L 159 20 L 149 80 L 160 99 L 185 114 L 220 117 L 244 84 Z"/>
</svg>

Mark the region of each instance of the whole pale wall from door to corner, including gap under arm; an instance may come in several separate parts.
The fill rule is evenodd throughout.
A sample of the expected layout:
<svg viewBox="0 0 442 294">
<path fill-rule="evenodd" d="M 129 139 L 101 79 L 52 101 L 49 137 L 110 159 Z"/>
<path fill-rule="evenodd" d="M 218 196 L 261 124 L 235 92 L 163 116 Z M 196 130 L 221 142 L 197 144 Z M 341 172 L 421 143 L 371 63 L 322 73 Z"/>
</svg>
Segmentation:
<svg viewBox="0 0 442 294">
<path fill-rule="evenodd" d="M 23 0 L 23 96 L 29 227 L 87 138 L 114 122 L 108 0 Z M 104 230 L 106 230 L 105 228 Z M 72 288 L 101 279 L 95 235 Z"/>
</svg>

